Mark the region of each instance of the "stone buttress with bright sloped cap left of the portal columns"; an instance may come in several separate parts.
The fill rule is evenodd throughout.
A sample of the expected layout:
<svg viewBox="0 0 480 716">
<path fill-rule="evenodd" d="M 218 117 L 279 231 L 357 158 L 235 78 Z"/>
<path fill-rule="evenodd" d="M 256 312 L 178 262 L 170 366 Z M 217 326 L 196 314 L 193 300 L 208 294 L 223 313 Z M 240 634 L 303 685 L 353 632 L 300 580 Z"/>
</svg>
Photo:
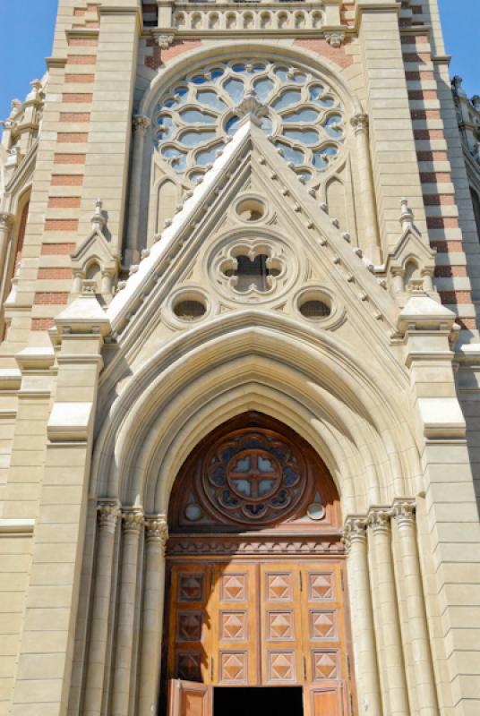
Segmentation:
<svg viewBox="0 0 480 716">
<path fill-rule="evenodd" d="M 93 296 L 78 301 L 57 318 L 56 401 L 47 422 L 12 716 L 64 716 L 68 706 L 100 349 L 109 329 Z"/>
</svg>

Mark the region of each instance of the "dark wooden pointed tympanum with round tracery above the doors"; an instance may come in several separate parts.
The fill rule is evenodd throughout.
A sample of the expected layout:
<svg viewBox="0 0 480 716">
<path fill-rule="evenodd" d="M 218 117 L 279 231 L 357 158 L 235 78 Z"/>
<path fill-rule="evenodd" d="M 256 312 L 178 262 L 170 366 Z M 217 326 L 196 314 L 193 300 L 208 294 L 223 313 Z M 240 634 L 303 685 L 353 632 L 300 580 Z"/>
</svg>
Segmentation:
<svg viewBox="0 0 480 716">
<path fill-rule="evenodd" d="M 294 430 L 243 413 L 203 439 L 184 463 L 170 533 L 339 533 L 339 497 L 321 459 Z"/>
</svg>

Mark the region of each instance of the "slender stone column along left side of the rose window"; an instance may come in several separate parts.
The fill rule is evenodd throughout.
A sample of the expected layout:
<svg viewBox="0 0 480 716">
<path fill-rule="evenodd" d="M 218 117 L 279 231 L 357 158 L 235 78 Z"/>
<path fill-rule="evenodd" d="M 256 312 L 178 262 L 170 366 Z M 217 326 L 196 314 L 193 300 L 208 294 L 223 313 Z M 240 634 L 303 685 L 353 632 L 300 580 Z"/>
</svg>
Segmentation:
<svg viewBox="0 0 480 716">
<path fill-rule="evenodd" d="M 133 159 L 130 184 L 130 202 L 125 263 L 130 266 L 140 260 L 139 227 L 141 202 L 141 176 L 143 167 L 143 147 L 145 135 L 150 127 L 150 119 L 141 115 L 133 117 Z"/>
</svg>

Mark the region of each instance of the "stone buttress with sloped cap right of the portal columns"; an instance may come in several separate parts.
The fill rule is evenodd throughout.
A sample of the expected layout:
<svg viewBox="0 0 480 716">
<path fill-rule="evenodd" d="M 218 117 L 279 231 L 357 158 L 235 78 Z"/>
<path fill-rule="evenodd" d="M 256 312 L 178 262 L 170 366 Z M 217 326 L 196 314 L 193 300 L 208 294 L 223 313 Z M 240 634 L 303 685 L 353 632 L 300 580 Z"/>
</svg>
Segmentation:
<svg viewBox="0 0 480 716">
<path fill-rule="evenodd" d="M 439 700 L 455 716 L 469 716 L 480 710 L 480 608 L 472 600 L 480 593 L 480 524 L 466 423 L 452 368 L 454 321 L 455 314 L 438 303 L 410 299 L 400 313 L 399 329 L 410 370 L 425 529 L 433 553 L 435 598 L 430 600 L 430 618 Z"/>
</svg>

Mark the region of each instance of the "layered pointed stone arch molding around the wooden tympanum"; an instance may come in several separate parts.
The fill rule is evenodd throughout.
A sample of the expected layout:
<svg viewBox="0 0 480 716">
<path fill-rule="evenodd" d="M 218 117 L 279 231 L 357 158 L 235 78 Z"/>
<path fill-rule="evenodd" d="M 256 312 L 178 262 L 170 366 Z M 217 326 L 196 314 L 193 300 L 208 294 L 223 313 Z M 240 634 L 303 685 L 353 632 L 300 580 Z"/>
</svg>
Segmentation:
<svg viewBox="0 0 480 716">
<path fill-rule="evenodd" d="M 91 492 L 165 512 L 194 445 L 220 422 L 256 410 L 313 446 L 345 513 L 415 493 L 406 377 L 373 373 L 337 337 L 294 320 L 258 311 L 220 316 L 174 339 L 113 403 L 103 402 Z M 110 390 L 107 380 L 101 392 Z"/>
</svg>

